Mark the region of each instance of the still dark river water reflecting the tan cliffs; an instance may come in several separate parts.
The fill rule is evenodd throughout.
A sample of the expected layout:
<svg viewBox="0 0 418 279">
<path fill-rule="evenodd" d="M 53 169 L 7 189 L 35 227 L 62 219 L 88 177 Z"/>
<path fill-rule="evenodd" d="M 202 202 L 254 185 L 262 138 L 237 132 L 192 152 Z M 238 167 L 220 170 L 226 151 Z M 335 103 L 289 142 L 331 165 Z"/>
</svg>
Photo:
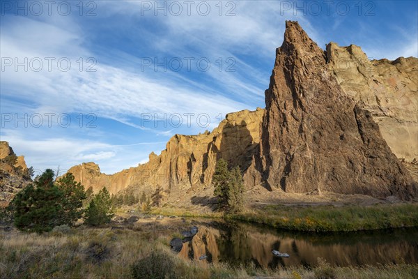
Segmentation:
<svg viewBox="0 0 418 279">
<path fill-rule="evenodd" d="M 316 266 L 321 257 L 336 266 L 418 263 L 418 229 L 394 229 L 344 234 L 278 232 L 242 223 L 197 222 L 199 232 L 186 242 L 180 256 L 232 266 Z M 291 257 L 273 257 L 272 250 Z"/>
</svg>

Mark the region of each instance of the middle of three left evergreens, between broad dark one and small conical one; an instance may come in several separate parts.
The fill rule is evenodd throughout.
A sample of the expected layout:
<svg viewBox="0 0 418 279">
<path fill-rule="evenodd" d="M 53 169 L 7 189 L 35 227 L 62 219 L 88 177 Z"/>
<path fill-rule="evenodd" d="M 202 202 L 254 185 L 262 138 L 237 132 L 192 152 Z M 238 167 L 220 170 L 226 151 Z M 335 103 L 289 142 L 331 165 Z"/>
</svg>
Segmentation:
<svg viewBox="0 0 418 279">
<path fill-rule="evenodd" d="M 63 192 L 63 223 L 73 225 L 75 221 L 82 218 L 83 200 L 86 199 L 86 193 L 81 183 L 75 181 L 72 173 L 68 172 L 56 181 L 56 186 Z"/>
</svg>

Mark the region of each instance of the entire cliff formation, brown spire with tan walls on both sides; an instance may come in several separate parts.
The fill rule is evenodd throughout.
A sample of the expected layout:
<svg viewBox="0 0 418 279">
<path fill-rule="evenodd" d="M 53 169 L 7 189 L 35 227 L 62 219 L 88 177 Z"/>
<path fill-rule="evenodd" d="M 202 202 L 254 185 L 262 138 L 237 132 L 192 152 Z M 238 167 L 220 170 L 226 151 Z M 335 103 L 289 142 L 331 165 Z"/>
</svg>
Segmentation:
<svg viewBox="0 0 418 279">
<path fill-rule="evenodd" d="M 160 156 L 116 174 L 94 163 L 69 172 L 93 190 L 162 186 L 179 197 L 208 190 L 224 158 L 240 165 L 247 188 L 417 197 L 398 160 L 418 158 L 417 59 L 369 61 L 359 47 L 335 43 L 324 51 L 297 22 L 286 22 L 276 55 L 266 110 L 228 114 L 212 133 L 175 135 Z"/>
</svg>

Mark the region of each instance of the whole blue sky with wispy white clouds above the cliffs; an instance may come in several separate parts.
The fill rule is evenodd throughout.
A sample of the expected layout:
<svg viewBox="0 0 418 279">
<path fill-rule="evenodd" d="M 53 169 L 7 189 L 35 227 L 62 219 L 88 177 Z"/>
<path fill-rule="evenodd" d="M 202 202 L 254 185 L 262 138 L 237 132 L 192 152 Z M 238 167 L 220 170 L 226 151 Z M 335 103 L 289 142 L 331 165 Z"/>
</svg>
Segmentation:
<svg viewBox="0 0 418 279">
<path fill-rule="evenodd" d="M 297 20 L 320 47 L 417 56 L 417 1 L 1 1 L 1 140 L 41 172 L 146 163 L 264 107 Z"/>
</svg>

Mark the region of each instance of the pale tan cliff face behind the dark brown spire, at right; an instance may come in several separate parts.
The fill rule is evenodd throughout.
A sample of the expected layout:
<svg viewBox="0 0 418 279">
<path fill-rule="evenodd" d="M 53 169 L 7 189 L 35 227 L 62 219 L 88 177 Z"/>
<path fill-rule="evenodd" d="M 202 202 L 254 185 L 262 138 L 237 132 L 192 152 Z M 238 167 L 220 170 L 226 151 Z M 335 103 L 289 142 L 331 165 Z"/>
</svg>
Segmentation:
<svg viewBox="0 0 418 279">
<path fill-rule="evenodd" d="M 330 43 L 327 61 L 343 91 L 371 112 L 392 152 L 418 160 L 418 59 L 369 61 L 360 47 Z"/>
</svg>

